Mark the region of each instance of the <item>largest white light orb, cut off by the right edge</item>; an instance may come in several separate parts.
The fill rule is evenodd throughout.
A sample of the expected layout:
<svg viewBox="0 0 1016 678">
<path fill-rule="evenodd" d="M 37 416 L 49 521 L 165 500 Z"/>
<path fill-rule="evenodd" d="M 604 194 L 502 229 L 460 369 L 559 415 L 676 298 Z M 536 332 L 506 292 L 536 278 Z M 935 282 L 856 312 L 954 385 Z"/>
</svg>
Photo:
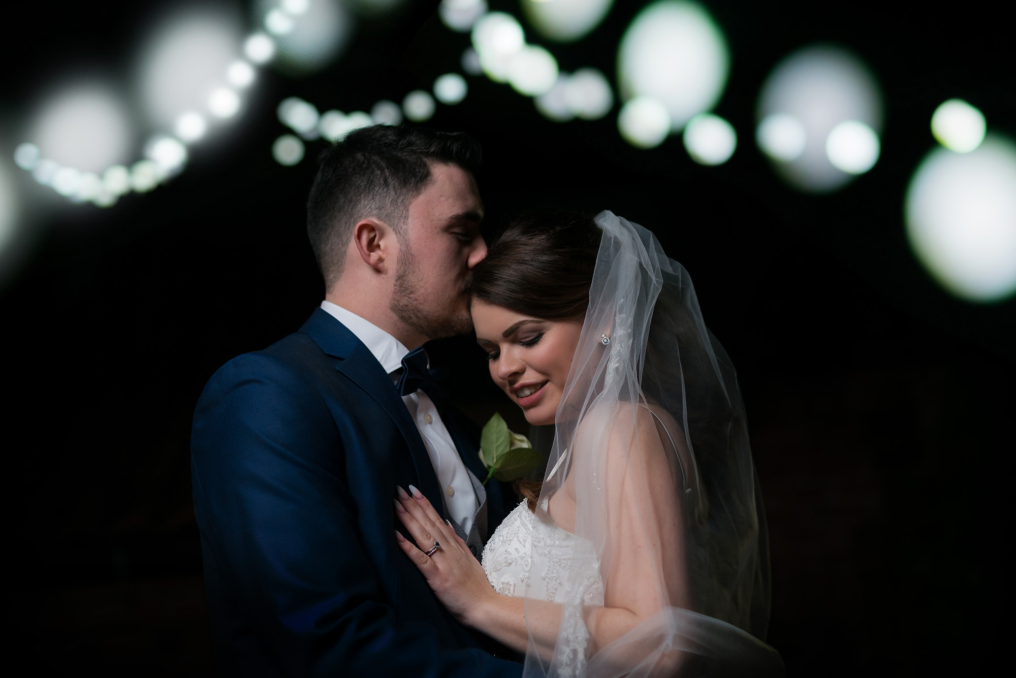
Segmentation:
<svg viewBox="0 0 1016 678">
<path fill-rule="evenodd" d="M 989 135 L 968 153 L 929 153 L 907 190 L 906 228 L 917 258 L 957 296 L 1016 292 L 1016 145 Z"/>
</svg>

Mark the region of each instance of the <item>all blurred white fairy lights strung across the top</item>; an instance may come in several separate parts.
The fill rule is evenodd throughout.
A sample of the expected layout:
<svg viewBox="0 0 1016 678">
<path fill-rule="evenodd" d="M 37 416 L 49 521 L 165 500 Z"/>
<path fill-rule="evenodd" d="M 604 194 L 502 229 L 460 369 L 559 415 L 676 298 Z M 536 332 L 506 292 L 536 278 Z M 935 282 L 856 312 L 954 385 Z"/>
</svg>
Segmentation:
<svg viewBox="0 0 1016 678">
<path fill-rule="evenodd" d="M 206 143 L 246 113 L 246 92 L 261 68 L 312 73 L 341 54 L 355 32 L 357 12 L 392 11 L 404 1 L 254 0 L 259 27 L 246 36 L 221 17 L 181 19 L 153 39 L 155 47 L 145 57 L 148 78 L 140 88 L 158 104 L 149 107 L 156 112 L 149 120 L 155 132 L 147 135 L 141 157 L 131 162 L 114 157 L 109 149 L 130 146 L 114 131 L 105 146 L 102 134 L 80 133 L 81 120 L 99 120 L 103 106 L 116 108 L 92 91 L 61 99 L 64 109 L 76 112 L 65 116 L 78 124 L 75 143 L 92 139 L 98 148 L 92 155 L 77 161 L 64 152 L 66 144 L 53 141 L 63 138 L 57 133 L 62 109 L 54 105 L 37 125 L 38 138 L 14 149 L 14 163 L 75 203 L 110 207 L 129 193 L 147 193 L 184 171 L 191 146 Z M 519 2 L 529 26 L 549 44 L 582 40 L 613 5 L 613 0 Z M 729 51 L 703 4 L 646 4 L 618 45 L 613 84 L 595 67 L 562 71 L 551 50 L 527 40 L 513 14 L 491 11 L 486 0 L 443 0 L 438 13 L 449 30 L 469 36 L 456 69 L 430 89 L 378 100 L 370 111 L 322 112 L 303 98 L 284 98 L 275 114 L 288 131 L 272 143 L 275 160 L 296 165 L 308 143 L 336 143 L 366 125 L 425 122 L 438 107 L 467 98 L 464 76 L 511 87 L 550 124 L 616 112 L 618 133 L 636 148 L 655 148 L 677 134 L 690 158 L 703 165 L 723 164 L 737 151 L 734 126 L 713 113 L 725 89 Z M 181 66 L 185 63 L 192 64 L 191 71 Z M 842 189 L 876 166 L 883 152 L 884 103 L 877 79 L 843 47 L 805 47 L 787 55 L 762 83 L 757 111 L 755 144 L 787 185 L 805 193 Z M 122 113 L 103 115 L 107 122 L 116 115 L 127 119 Z M 939 145 L 917 165 L 903 196 L 911 247 L 955 295 L 972 301 L 1006 298 L 1016 291 L 1016 145 L 960 99 L 943 103 L 931 116 L 931 128 Z M 0 172 L 0 182 L 3 177 Z M 12 195 L 0 184 L 0 248 L 16 213 Z"/>
</svg>

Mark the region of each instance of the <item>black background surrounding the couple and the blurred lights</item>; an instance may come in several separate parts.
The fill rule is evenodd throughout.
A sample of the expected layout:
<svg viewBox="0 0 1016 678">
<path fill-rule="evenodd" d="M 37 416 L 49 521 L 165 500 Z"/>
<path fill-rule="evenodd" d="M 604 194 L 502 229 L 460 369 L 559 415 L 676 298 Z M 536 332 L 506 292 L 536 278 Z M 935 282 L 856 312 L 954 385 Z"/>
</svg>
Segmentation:
<svg viewBox="0 0 1016 678">
<path fill-rule="evenodd" d="M 153 19 L 179 3 L 138 4 L 17 10 L 0 53 L 3 152 L 42 83 L 89 69 L 127 77 Z M 369 111 L 459 70 L 468 38 L 441 24 L 436 4 L 363 20 L 313 77 L 262 71 L 244 120 L 195 146 L 171 184 L 109 210 L 61 204 L 33 218 L 0 289 L 0 345 L 7 638 L 35 673 L 213 671 L 193 407 L 223 362 L 296 330 L 323 296 L 303 220 L 324 142 L 296 167 L 276 164 L 271 142 L 285 130 L 274 107 L 296 94 Z M 521 17 L 514 2 L 491 4 Z M 613 81 L 616 46 L 643 4 L 619 0 L 590 37 L 552 47 L 561 67 Z M 466 99 L 439 105 L 429 124 L 483 142 L 489 230 L 522 208 L 611 209 L 691 273 L 739 367 L 768 510 L 769 641 L 789 675 L 980 672 L 1009 638 L 1016 302 L 975 306 L 939 288 L 908 250 L 902 199 L 946 98 L 1016 134 L 1009 23 L 980 2 L 704 4 L 733 55 L 716 112 L 740 146 L 721 166 L 696 165 L 677 136 L 628 146 L 617 107 L 550 123 L 484 77 L 467 76 Z M 862 56 L 887 112 L 879 163 L 830 196 L 795 193 L 752 143 L 766 75 L 816 42 Z M 468 339 L 434 349 L 475 357 L 456 382 L 471 416 L 499 409 L 523 425 Z"/>
</svg>

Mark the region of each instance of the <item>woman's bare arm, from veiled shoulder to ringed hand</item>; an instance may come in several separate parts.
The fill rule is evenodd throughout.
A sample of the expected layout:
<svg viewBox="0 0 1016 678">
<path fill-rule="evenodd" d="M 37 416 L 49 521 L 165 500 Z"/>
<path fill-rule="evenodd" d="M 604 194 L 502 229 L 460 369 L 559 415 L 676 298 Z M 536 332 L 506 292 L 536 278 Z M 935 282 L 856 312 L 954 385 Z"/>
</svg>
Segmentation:
<svg viewBox="0 0 1016 678">
<path fill-rule="evenodd" d="M 663 607 L 684 606 L 686 586 L 676 461 L 669 459 L 651 414 L 639 407 L 630 417 L 616 417 L 608 435 L 589 443 L 598 445 L 602 455 L 577 458 L 572 473 L 578 482 L 584 482 L 593 470 L 589 464 L 594 464 L 602 486 L 596 495 L 606 502 L 608 524 L 600 528 L 606 530 L 604 606 L 588 607 L 585 612 L 595 650 L 623 636 Z M 576 440 L 579 455 L 583 447 L 582 440 Z M 464 542 L 440 521 L 422 494 L 416 492 L 412 498 L 405 495 L 396 504 L 400 512 L 406 512 L 399 513 L 399 518 L 417 543 L 431 544 L 434 539 L 441 542 L 442 549 L 428 557 L 398 536 L 403 551 L 457 619 L 518 652 L 525 652 L 530 633 L 541 655 L 553 652 L 560 630 L 561 605 L 497 594 Z M 579 511 L 589 509 L 579 506 Z"/>
</svg>

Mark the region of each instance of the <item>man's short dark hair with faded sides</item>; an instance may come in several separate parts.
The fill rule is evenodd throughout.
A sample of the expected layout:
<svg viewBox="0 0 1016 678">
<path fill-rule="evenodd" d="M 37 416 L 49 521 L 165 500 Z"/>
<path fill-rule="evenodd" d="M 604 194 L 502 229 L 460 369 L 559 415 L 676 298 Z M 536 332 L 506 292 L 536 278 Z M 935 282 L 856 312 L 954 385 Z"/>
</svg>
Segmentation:
<svg viewBox="0 0 1016 678">
<path fill-rule="evenodd" d="M 480 143 L 464 132 L 374 125 L 325 151 L 310 198 L 307 235 L 325 289 L 342 275 L 353 226 L 376 217 L 400 233 L 409 203 L 431 182 L 431 162 L 480 171 Z"/>
</svg>

